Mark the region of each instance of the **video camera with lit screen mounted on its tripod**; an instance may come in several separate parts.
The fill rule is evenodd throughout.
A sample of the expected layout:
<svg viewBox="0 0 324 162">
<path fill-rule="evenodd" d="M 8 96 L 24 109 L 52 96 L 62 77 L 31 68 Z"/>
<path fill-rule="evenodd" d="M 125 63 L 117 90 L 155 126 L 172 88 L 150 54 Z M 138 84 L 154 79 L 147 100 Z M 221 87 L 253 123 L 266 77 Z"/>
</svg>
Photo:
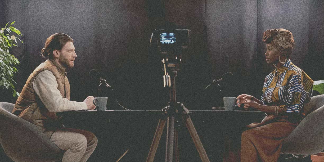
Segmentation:
<svg viewBox="0 0 324 162">
<path fill-rule="evenodd" d="M 181 120 L 186 124 L 202 161 L 209 162 L 203 144 L 189 116 L 188 109 L 186 109 L 182 103 L 177 102 L 176 99 L 175 78 L 177 72 L 180 70 L 181 55 L 185 49 L 188 49 L 189 42 L 189 29 L 166 27 L 164 29 L 155 29 L 152 32 L 150 47 L 153 50 L 152 52 L 161 56 L 162 69 L 164 72 L 163 83 L 164 87 L 169 88 L 170 102 L 166 108 L 162 109 L 163 113 L 158 121 L 146 162 L 153 162 L 165 125 L 167 125 L 165 162 L 172 162 L 173 158 L 175 158 L 175 161 L 179 161 L 178 131 L 175 130 L 175 120 Z M 175 156 L 173 156 L 173 151 L 175 151 Z"/>
</svg>

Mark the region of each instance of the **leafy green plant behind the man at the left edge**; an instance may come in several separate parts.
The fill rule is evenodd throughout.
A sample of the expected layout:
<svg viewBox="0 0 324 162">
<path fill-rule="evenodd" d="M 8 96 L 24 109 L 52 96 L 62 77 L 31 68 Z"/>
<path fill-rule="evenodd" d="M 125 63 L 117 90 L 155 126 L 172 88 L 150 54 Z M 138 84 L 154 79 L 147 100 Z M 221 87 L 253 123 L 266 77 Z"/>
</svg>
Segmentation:
<svg viewBox="0 0 324 162">
<path fill-rule="evenodd" d="M 9 23 L 9 22 L 8 22 Z M 5 28 L 0 30 L 0 89 L 12 91 L 13 97 L 18 97 L 19 93 L 15 90 L 13 77 L 17 73 L 18 59 L 9 53 L 9 49 L 17 46 L 17 40 L 21 41 L 18 37 L 22 36 L 20 31 L 12 26 L 13 21 L 9 27 L 8 23 Z M 17 37 L 14 34 L 17 34 Z M 21 41 L 23 43 L 23 41 Z"/>
</svg>

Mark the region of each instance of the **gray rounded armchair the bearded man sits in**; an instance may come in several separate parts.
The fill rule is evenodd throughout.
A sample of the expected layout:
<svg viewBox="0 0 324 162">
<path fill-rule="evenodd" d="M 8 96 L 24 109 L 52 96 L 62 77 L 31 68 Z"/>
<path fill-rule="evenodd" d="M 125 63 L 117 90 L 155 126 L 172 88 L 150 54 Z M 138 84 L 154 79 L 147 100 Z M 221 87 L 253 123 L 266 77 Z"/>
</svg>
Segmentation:
<svg viewBox="0 0 324 162">
<path fill-rule="evenodd" d="M 55 162 L 63 151 L 34 124 L 12 114 L 14 104 L 0 102 L 0 143 L 15 162 Z"/>
</svg>

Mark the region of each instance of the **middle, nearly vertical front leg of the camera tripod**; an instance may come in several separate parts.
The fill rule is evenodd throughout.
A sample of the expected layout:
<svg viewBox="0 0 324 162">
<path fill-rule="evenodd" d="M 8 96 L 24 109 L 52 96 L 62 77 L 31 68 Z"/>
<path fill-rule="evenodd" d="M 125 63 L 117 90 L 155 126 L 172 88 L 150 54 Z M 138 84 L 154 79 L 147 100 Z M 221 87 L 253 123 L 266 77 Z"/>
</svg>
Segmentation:
<svg viewBox="0 0 324 162">
<path fill-rule="evenodd" d="M 174 116 L 168 117 L 167 145 L 165 151 L 165 162 L 172 162 L 174 144 Z"/>
</svg>

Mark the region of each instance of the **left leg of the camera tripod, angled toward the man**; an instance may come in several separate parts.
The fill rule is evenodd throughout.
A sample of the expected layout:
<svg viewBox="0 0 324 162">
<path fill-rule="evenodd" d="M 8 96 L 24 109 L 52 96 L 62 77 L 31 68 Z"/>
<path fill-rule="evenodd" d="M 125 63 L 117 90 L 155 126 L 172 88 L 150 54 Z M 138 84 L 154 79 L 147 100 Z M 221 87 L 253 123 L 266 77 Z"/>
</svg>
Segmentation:
<svg viewBox="0 0 324 162">
<path fill-rule="evenodd" d="M 165 122 L 166 122 L 165 119 L 159 119 L 159 122 L 156 127 L 156 131 L 155 131 L 155 134 L 153 137 L 153 141 L 152 141 L 152 144 L 150 147 L 150 151 L 148 152 L 148 156 L 146 158 L 146 162 L 153 162 L 153 160 L 154 160 L 156 149 L 157 149 L 157 146 L 159 145 L 159 142 L 160 142 L 160 139 L 161 139 L 161 136 L 163 133 L 163 129 L 165 126 Z"/>
</svg>

